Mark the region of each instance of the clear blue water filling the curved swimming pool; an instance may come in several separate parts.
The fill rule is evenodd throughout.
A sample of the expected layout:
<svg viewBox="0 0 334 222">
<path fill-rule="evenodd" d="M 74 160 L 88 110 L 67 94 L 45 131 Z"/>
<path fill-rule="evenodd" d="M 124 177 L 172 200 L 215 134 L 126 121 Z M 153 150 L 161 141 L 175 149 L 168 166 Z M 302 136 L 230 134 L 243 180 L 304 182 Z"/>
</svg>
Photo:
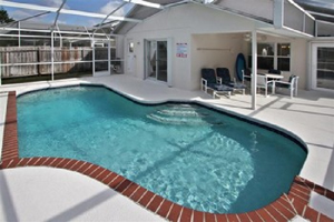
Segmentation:
<svg viewBox="0 0 334 222">
<path fill-rule="evenodd" d="M 61 157 L 115 171 L 181 205 L 262 208 L 287 192 L 306 152 L 289 139 L 195 105 L 140 105 L 99 87 L 18 98 L 20 157 Z"/>
</svg>

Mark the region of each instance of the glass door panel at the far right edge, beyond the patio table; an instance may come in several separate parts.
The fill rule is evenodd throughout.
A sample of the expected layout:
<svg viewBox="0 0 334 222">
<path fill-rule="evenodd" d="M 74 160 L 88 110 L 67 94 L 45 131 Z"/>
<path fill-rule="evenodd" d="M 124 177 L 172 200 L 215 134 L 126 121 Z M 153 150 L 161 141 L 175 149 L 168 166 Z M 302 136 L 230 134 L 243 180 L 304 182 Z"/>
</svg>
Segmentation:
<svg viewBox="0 0 334 222">
<path fill-rule="evenodd" d="M 334 90 L 334 48 L 317 48 L 316 88 Z"/>
</svg>

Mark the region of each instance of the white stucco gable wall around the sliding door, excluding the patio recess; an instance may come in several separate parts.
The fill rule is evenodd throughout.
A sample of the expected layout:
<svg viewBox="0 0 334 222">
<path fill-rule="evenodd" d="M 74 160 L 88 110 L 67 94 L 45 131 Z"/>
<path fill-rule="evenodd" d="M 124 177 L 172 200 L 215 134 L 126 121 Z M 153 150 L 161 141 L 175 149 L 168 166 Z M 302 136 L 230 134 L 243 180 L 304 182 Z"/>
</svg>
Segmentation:
<svg viewBox="0 0 334 222">
<path fill-rule="evenodd" d="M 226 22 L 228 21 L 228 22 Z M 199 88 L 199 81 L 194 81 L 191 59 L 194 51 L 193 34 L 244 32 L 250 30 L 254 21 L 230 13 L 209 9 L 197 4 L 184 4 L 161 11 L 144 22 L 138 23 L 125 37 L 135 42 L 135 77 L 145 79 L 144 40 L 171 39 L 171 85 L 180 89 L 194 90 Z M 218 42 L 222 42 L 220 40 Z M 176 43 L 187 43 L 187 58 L 176 57 Z M 196 46 L 195 46 L 196 48 Z M 125 47 L 127 51 L 127 47 Z M 212 57 L 215 57 L 214 54 Z M 125 53 L 127 59 L 127 53 Z M 195 79 L 198 79 L 198 73 Z"/>
</svg>

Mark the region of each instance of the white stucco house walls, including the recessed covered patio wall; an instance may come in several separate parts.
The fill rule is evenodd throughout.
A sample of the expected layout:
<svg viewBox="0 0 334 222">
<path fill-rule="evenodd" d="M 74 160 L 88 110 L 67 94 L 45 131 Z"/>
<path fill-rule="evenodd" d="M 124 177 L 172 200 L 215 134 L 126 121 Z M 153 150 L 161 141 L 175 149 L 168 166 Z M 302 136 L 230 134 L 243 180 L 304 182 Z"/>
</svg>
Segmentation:
<svg viewBox="0 0 334 222">
<path fill-rule="evenodd" d="M 271 29 L 269 24 L 255 22 L 229 12 L 188 3 L 161 11 L 138 23 L 125 36 L 125 59 L 127 41 L 135 42 L 135 71 L 132 74 L 145 79 L 145 40 L 171 40 L 171 87 L 199 89 L 200 69 L 204 67 L 227 67 L 234 74 L 236 56 L 243 52 L 247 58 L 247 42 L 243 34 L 253 29 Z M 273 28 L 272 28 L 273 30 Z M 267 38 L 266 41 L 278 41 Z M 281 41 L 281 40 L 279 40 Z M 292 72 L 301 77 L 299 88 L 306 87 L 307 42 L 303 39 L 284 38 L 292 42 Z M 187 43 L 187 58 L 176 57 L 176 44 Z M 198 48 L 218 48 L 228 50 L 197 50 Z"/>
</svg>

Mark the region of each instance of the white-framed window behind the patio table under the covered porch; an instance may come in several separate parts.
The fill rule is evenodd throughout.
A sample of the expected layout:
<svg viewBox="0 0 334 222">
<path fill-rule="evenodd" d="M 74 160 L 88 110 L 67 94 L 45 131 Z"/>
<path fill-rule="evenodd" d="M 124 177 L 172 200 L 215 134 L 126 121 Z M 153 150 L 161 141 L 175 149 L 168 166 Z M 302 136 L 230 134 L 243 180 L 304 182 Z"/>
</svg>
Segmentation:
<svg viewBox="0 0 334 222">
<path fill-rule="evenodd" d="M 248 49 L 248 67 L 252 68 L 252 44 Z M 289 71 L 289 43 L 257 43 L 257 69 Z"/>
</svg>

